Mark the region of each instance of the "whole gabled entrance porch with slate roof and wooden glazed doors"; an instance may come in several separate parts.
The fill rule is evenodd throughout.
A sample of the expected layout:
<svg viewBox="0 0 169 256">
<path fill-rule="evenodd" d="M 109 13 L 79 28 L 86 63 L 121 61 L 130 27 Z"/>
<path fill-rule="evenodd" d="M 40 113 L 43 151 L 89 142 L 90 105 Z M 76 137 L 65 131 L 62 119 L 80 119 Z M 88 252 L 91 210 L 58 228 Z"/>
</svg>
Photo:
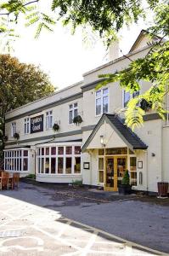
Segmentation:
<svg viewBox="0 0 169 256">
<path fill-rule="evenodd" d="M 82 153 L 90 155 L 90 184 L 102 186 L 105 191 L 118 191 L 124 172 L 128 170 L 130 184 L 135 188 L 138 183 L 142 185 L 146 149 L 118 116 L 104 114 L 82 147 Z M 83 173 L 85 176 L 85 170 Z"/>
</svg>

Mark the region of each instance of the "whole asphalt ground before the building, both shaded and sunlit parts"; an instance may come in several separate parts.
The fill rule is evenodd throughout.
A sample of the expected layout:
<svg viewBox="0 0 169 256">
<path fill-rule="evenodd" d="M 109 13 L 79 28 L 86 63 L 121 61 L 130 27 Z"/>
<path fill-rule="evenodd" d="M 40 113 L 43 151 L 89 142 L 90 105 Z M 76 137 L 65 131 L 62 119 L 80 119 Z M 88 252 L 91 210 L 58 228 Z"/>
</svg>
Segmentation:
<svg viewBox="0 0 169 256">
<path fill-rule="evenodd" d="M 0 255 L 169 255 L 169 207 L 74 195 L 26 183 L 0 192 Z"/>
</svg>

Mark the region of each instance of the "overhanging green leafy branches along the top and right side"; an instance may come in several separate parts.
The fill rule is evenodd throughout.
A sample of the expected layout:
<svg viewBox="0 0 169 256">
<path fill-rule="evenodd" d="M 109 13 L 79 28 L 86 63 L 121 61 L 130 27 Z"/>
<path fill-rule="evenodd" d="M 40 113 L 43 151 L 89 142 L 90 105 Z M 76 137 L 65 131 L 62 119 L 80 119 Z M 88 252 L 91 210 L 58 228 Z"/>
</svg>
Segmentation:
<svg viewBox="0 0 169 256">
<path fill-rule="evenodd" d="M 91 26 L 93 32 L 99 32 L 100 38 L 109 45 L 123 26 L 130 26 L 140 17 L 146 20 L 147 12 L 153 13 L 154 25 L 149 27 L 149 35 L 161 35 L 159 42 L 151 45 L 144 59 L 131 61 L 129 69 L 103 75 L 104 82 L 100 86 L 120 81 L 121 87 L 133 92 L 139 90 L 139 80 L 151 82 L 152 87 L 144 95 L 128 103 L 126 123 L 132 129 L 143 123 L 145 112 L 138 105 L 143 101 L 165 119 L 164 97 L 169 90 L 169 43 L 162 39 L 169 35 L 169 0 L 53 0 L 48 2 L 48 5 L 51 4 L 51 15 L 41 11 L 41 3 L 42 0 L 8 0 L 2 3 L 0 32 L 14 38 L 14 29 L 8 24 L 17 23 L 20 15 L 25 15 L 28 26 L 37 24 L 36 37 L 43 28 L 52 30 L 57 20 L 62 20 L 64 26 L 71 25 L 73 32 L 76 26 Z"/>
</svg>

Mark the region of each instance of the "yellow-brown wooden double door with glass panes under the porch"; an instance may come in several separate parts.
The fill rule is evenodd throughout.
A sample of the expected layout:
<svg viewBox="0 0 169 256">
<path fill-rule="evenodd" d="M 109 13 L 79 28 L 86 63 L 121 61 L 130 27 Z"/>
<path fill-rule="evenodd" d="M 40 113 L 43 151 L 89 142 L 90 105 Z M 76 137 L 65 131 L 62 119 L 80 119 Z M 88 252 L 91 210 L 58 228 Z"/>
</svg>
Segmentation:
<svg viewBox="0 0 169 256">
<path fill-rule="evenodd" d="M 127 156 L 105 158 L 104 190 L 117 191 L 124 172 L 127 170 Z"/>
</svg>

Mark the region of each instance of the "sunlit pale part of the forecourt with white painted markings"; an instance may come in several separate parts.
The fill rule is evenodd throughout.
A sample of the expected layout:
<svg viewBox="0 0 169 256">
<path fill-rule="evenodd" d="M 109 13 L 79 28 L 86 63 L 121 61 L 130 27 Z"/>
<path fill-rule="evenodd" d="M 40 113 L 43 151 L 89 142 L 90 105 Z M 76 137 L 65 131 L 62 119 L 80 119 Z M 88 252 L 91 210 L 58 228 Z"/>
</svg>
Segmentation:
<svg viewBox="0 0 169 256">
<path fill-rule="evenodd" d="M 168 255 L 0 195 L 0 256 Z"/>
</svg>

